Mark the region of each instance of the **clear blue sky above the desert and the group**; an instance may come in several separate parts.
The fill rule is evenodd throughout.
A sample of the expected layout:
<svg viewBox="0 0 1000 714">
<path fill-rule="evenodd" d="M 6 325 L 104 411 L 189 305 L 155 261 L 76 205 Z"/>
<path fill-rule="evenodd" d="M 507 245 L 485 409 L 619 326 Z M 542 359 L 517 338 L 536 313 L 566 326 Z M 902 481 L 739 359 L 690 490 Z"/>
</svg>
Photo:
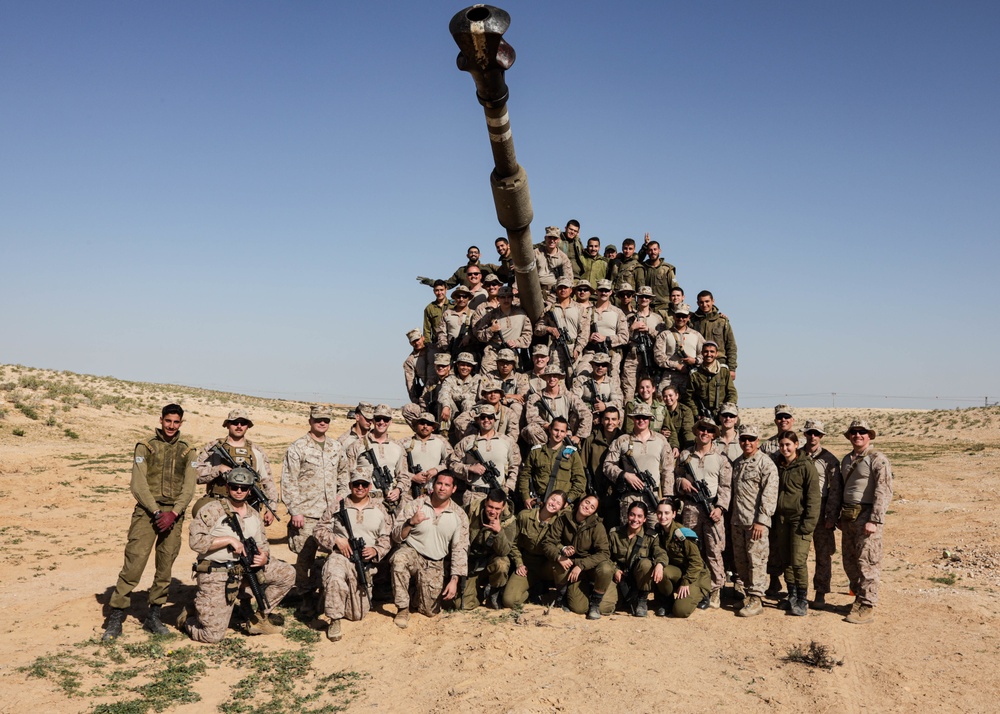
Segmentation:
<svg viewBox="0 0 1000 714">
<path fill-rule="evenodd" d="M 536 239 L 649 231 L 741 404 L 1000 399 L 1000 3 L 500 6 Z M 0 361 L 401 404 L 503 233 L 462 7 L 0 0 Z"/>
</svg>

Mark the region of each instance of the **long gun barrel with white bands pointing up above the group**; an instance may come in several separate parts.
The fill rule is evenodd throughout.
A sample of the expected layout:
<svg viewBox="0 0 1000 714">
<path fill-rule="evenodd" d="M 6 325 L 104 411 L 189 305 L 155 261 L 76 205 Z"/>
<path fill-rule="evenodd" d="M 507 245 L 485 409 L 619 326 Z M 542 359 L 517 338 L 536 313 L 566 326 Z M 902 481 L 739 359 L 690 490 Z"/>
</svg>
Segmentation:
<svg viewBox="0 0 1000 714">
<path fill-rule="evenodd" d="M 528 175 L 517 163 L 507 115 L 504 73 L 514 64 L 514 48 L 503 39 L 510 15 L 492 5 L 473 5 L 458 12 L 448 25 L 458 45 L 458 68 L 472 75 L 476 98 L 483 105 L 493 151 L 490 187 L 497 220 L 507 230 L 521 307 L 532 322 L 542 317 L 542 288 L 538 282 L 531 242 L 531 193 Z"/>
</svg>

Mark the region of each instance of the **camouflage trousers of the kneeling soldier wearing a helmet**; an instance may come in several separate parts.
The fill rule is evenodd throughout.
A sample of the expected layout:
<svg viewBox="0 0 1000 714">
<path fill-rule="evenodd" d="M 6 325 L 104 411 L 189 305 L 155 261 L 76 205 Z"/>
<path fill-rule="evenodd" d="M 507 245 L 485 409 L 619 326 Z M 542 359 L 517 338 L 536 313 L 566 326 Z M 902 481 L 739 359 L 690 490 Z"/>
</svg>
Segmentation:
<svg viewBox="0 0 1000 714">
<path fill-rule="evenodd" d="M 267 561 L 261 572 L 263 574 L 260 580 L 264 586 L 264 596 L 273 610 L 292 589 L 295 583 L 295 568 L 284 561 L 272 558 Z M 226 602 L 228 580 L 229 573 L 224 570 L 198 573 L 198 591 L 194 596 L 197 619 L 189 617 L 186 624 L 188 634 L 195 642 L 222 642 L 226 636 L 235 604 Z M 241 590 L 249 590 L 245 581 Z"/>
</svg>

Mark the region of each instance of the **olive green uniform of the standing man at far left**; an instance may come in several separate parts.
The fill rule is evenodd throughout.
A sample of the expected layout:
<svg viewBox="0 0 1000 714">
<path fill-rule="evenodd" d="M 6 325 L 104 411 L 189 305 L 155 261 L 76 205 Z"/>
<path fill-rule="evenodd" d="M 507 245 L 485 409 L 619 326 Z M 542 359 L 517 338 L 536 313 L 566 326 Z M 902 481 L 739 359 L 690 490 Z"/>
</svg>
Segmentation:
<svg viewBox="0 0 1000 714">
<path fill-rule="evenodd" d="M 181 548 L 184 511 L 194 496 L 196 473 L 194 448 L 179 433 L 168 439 L 162 429 L 135 445 L 130 488 L 136 504 L 125 544 L 125 563 L 111 596 L 111 607 L 124 610 L 132 603 L 132 591 L 142 578 L 149 553 L 156 549 L 156 574 L 149 588 L 149 604 L 167 601 L 170 574 Z M 177 520 L 166 533 L 155 527 L 157 511 L 173 511 Z"/>
</svg>

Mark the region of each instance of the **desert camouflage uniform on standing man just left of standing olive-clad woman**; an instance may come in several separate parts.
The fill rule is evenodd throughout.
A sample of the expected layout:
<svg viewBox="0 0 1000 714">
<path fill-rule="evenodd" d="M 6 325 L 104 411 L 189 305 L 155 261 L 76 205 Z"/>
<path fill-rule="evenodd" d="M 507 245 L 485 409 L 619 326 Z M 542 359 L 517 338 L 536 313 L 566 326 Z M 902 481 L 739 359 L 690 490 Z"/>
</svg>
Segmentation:
<svg viewBox="0 0 1000 714">
<path fill-rule="evenodd" d="M 770 553 L 771 517 L 778 505 L 778 467 L 767 454 L 758 451 L 749 459 L 740 456 L 733 463 L 732 536 L 736 583 L 747 595 L 764 597 L 767 588 L 767 559 Z M 766 530 L 759 540 L 750 535 L 754 523 Z"/>
</svg>

